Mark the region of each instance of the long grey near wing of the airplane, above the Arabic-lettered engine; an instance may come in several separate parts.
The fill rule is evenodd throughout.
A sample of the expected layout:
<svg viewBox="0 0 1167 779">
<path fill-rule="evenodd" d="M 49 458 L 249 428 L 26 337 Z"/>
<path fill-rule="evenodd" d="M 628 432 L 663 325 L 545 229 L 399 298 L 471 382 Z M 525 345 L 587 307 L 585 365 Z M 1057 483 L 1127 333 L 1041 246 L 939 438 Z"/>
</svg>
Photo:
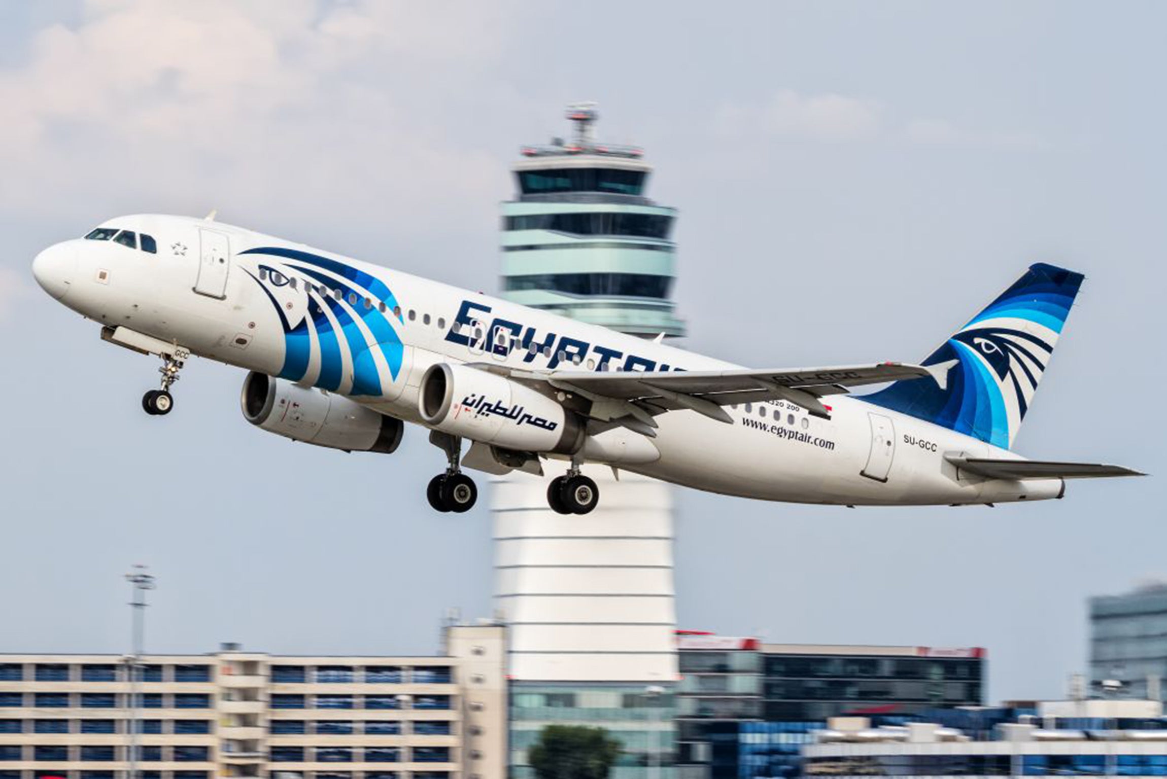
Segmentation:
<svg viewBox="0 0 1167 779">
<path fill-rule="evenodd" d="M 735 403 L 788 400 L 811 414 L 829 417 L 819 398 L 850 387 L 932 377 L 942 385 L 949 366 L 879 363 L 780 370 L 732 371 L 509 371 L 511 378 L 546 383 L 593 402 L 593 417 L 633 416 L 656 427 L 651 416 L 689 408 L 720 422 L 732 422 L 721 408 Z"/>
</svg>

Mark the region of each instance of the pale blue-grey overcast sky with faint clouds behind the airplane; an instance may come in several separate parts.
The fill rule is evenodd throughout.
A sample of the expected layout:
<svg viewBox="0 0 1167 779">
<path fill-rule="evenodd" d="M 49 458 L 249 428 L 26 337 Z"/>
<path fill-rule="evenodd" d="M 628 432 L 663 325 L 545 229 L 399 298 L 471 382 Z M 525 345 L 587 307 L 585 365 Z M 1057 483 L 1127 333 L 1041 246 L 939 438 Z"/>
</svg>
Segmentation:
<svg viewBox="0 0 1167 779">
<path fill-rule="evenodd" d="M 680 209 L 689 349 L 750 366 L 921 359 L 1028 264 L 1084 272 L 1018 451 L 1167 472 L 1167 7 L 1154 2 L 0 3 L 0 651 L 429 653 L 490 612 L 490 515 L 439 515 L 439 451 L 293 444 L 243 373 L 154 359 L 32 280 L 119 213 L 219 218 L 491 290 L 519 145 L 600 101 Z M 678 490 L 683 627 L 986 646 L 1056 696 L 1085 598 L 1167 575 L 1162 479 L 966 508 Z"/>
</svg>

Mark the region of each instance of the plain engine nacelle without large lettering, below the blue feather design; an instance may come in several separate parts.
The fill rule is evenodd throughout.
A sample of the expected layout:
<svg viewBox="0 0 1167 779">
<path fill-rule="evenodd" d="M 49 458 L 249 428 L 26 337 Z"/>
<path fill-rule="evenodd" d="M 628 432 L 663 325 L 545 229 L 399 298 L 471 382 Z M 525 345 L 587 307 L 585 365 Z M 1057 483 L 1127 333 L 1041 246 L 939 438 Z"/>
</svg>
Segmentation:
<svg viewBox="0 0 1167 779">
<path fill-rule="evenodd" d="M 345 451 L 391 454 L 405 423 L 378 414 L 344 395 L 307 390 L 252 371 L 243 381 L 244 417 L 256 427 L 293 441 Z"/>
</svg>

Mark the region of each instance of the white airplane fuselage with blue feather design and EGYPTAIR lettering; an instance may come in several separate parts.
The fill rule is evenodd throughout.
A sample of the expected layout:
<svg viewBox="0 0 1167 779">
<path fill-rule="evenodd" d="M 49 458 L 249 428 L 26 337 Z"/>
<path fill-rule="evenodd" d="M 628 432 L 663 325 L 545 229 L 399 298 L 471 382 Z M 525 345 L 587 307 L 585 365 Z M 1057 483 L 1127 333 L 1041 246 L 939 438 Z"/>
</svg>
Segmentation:
<svg viewBox="0 0 1167 779">
<path fill-rule="evenodd" d="M 37 259 L 61 276 L 50 289 L 54 296 L 103 325 L 124 327 L 176 343 L 194 355 L 270 376 L 280 376 L 288 367 L 287 323 L 306 316 L 312 295 L 321 289 L 330 294 L 330 280 L 352 285 L 357 274 L 362 289 L 387 289 L 390 295 L 370 292 L 355 303 L 342 302 L 384 307 L 396 331 L 392 344 L 357 317 L 348 327 L 350 341 L 363 339 L 361 350 L 338 349 L 333 362 L 338 355 L 340 363 L 328 365 L 327 350 L 313 332 L 302 376 L 293 378 L 301 386 L 331 390 L 408 422 L 421 423 L 420 380 L 440 362 L 574 371 L 735 367 L 219 223 L 137 216 L 107 224 L 148 233 L 158 252 L 135 251 L 109 240 L 58 244 L 46 250 L 43 261 Z M 335 265 L 315 265 L 315 275 L 309 276 L 299 273 L 295 262 L 287 264 L 288 257 L 294 259 L 298 253 Z M 394 307 L 399 311 L 394 313 Z M 337 331 L 344 328 L 335 320 L 331 324 Z M 361 374 L 355 363 L 362 360 L 380 379 L 377 394 L 354 391 Z M 1053 498 L 1062 492 L 1061 479 L 984 479 L 958 472 L 945 461 L 945 455 L 959 452 L 1015 457 L 1008 450 L 861 399 L 833 395 L 824 401 L 831 406 L 829 420 L 785 401 L 727 407 L 732 424 L 691 410 L 661 414 L 656 417 L 657 437 L 651 441 L 658 458 L 617 464 L 699 490 L 798 503 L 976 504 Z"/>
</svg>

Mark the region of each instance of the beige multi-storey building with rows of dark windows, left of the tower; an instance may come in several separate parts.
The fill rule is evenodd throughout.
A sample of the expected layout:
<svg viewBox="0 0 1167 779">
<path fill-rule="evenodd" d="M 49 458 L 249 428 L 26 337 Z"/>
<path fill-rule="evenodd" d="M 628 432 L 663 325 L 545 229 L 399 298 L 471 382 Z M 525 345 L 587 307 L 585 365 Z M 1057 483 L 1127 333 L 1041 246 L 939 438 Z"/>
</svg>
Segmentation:
<svg viewBox="0 0 1167 779">
<path fill-rule="evenodd" d="M 0 655 L 0 779 L 503 779 L 504 629 L 446 647 L 144 655 L 137 707 L 123 657 Z"/>
</svg>

